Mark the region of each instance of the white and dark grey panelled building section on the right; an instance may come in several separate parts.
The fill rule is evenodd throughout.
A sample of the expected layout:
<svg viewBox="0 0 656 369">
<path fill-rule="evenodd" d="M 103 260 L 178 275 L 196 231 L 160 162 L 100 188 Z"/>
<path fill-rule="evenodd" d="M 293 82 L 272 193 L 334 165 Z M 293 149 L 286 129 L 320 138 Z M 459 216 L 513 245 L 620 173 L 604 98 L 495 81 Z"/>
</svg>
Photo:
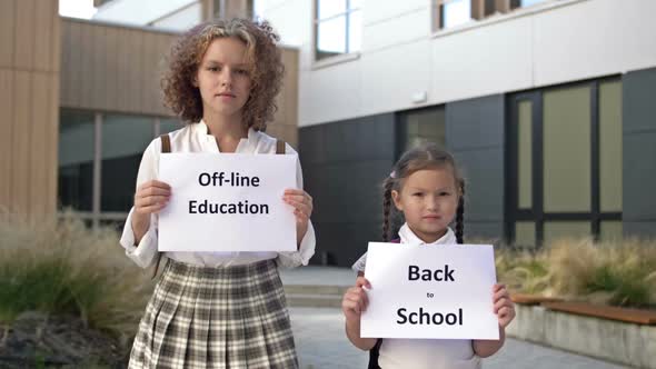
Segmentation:
<svg viewBox="0 0 656 369">
<path fill-rule="evenodd" d="M 322 261 L 349 266 L 380 240 L 380 183 L 421 141 L 465 172 L 466 238 L 656 236 L 655 1 L 265 2 L 284 40 L 302 36 Z"/>
</svg>

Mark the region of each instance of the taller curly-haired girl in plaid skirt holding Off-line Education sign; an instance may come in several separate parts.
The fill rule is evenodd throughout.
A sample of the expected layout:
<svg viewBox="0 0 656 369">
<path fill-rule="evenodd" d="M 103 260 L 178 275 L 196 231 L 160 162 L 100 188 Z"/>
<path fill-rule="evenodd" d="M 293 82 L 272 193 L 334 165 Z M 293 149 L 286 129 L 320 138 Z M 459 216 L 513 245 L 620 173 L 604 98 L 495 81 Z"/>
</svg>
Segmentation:
<svg viewBox="0 0 656 369">
<path fill-rule="evenodd" d="M 216 20 L 173 46 L 165 102 L 187 124 L 146 149 L 121 245 L 142 268 L 159 266 L 158 217 L 171 188 L 158 180 L 160 152 L 287 153 L 266 133 L 284 67 L 266 22 Z M 278 267 L 307 265 L 315 252 L 312 199 L 297 188 L 295 252 L 166 252 L 168 260 L 139 323 L 129 368 L 297 368 Z M 226 230 L 229 231 L 229 230 Z"/>
</svg>

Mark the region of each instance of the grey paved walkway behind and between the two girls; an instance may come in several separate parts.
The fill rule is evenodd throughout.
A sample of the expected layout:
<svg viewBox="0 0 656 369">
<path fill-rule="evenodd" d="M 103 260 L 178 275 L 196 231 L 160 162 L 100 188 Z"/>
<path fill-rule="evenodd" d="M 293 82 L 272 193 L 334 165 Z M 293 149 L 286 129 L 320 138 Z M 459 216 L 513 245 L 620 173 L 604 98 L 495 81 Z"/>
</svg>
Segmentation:
<svg viewBox="0 0 656 369">
<path fill-rule="evenodd" d="M 351 286 L 356 273 L 348 268 L 304 267 L 282 270 L 285 285 Z M 344 316 L 336 308 L 289 309 L 301 369 L 367 368 L 368 353 L 352 347 L 344 333 Z M 620 369 L 588 357 L 508 339 L 500 352 L 484 360 L 486 369 Z"/>
</svg>

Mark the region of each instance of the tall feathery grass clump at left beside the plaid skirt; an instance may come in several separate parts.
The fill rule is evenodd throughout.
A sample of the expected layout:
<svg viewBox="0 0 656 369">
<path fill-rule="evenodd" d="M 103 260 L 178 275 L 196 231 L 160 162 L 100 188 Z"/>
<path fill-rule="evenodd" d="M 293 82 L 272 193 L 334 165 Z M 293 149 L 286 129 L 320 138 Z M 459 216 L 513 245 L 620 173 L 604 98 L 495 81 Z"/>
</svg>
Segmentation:
<svg viewBox="0 0 656 369">
<path fill-rule="evenodd" d="M 0 326 L 30 310 L 73 313 L 130 338 L 153 283 L 118 239 L 116 230 L 90 230 L 70 213 L 41 222 L 0 215 Z"/>
</svg>

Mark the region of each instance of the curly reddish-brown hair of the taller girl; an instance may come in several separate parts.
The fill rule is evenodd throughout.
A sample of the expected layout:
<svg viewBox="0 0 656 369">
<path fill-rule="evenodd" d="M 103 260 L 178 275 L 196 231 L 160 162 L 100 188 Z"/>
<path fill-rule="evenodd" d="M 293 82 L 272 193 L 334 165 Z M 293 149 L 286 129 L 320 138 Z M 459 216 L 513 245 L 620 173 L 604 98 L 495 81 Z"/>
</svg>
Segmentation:
<svg viewBox="0 0 656 369">
<path fill-rule="evenodd" d="M 185 32 L 171 48 L 169 68 L 161 79 L 165 104 L 187 123 L 200 121 L 202 100 L 193 80 L 207 48 L 221 37 L 233 37 L 246 44 L 251 91 L 242 119 L 247 127 L 264 131 L 278 110 L 276 96 L 285 73 L 277 48 L 280 38 L 265 20 L 212 20 Z"/>
</svg>

